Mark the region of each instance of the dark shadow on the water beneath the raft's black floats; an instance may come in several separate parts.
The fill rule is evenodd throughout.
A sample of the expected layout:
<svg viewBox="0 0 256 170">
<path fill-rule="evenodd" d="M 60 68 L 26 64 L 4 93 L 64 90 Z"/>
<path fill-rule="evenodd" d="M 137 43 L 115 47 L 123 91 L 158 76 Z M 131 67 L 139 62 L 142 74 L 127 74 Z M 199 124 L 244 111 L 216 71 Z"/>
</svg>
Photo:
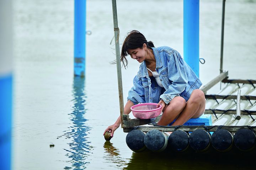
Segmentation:
<svg viewBox="0 0 256 170">
<path fill-rule="evenodd" d="M 255 153 L 255 152 L 254 152 Z M 208 152 L 161 153 L 144 151 L 132 153 L 125 170 L 252 170 L 255 169 L 255 155 L 241 152 Z"/>
</svg>

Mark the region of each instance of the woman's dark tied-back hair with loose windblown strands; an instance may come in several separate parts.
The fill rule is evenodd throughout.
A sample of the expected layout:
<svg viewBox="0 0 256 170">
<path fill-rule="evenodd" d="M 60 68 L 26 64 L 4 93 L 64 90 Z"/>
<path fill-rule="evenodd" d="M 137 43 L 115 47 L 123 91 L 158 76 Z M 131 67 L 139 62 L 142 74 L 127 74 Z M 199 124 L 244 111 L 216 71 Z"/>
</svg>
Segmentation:
<svg viewBox="0 0 256 170">
<path fill-rule="evenodd" d="M 126 68 L 128 61 L 126 59 L 126 56 L 128 56 L 127 50 L 129 49 L 137 49 L 137 48 L 143 48 L 143 44 L 146 44 L 147 48 L 152 49 L 152 47 L 155 47 L 152 41 L 147 41 L 145 36 L 138 32 L 137 30 L 132 30 L 129 32 L 124 39 L 122 51 L 120 60 L 123 62 L 124 68 Z M 111 64 L 115 64 L 116 61 L 112 62 Z"/>
</svg>

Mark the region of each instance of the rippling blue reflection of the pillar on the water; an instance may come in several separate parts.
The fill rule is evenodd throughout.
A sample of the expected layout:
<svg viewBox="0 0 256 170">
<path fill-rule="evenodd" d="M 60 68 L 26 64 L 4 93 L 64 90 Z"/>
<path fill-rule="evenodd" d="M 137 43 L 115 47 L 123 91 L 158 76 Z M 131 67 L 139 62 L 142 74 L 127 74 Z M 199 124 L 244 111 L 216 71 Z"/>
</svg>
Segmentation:
<svg viewBox="0 0 256 170">
<path fill-rule="evenodd" d="M 63 131 L 65 138 L 71 138 L 72 141 L 69 144 L 69 149 L 64 149 L 68 153 L 66 156 L 71 158 L 71 164 L 73 167 L 66 166 L 64 169 L 85 169 L 88 164 L 87 157 L 90 153 L 91 146 L 87 140 L 87 134 L 91 129 L 85 124 L 87 119 L 84 118 L 86 113 L 86 94 L 85 94 L 85 78 L 74 77 L 73 81 L 73 97 L 74 103 L 73 112 L 70 113 L 70 120 L 73 122 L 73 126 L 69 127 L 69 130 Z"/>
</svg>

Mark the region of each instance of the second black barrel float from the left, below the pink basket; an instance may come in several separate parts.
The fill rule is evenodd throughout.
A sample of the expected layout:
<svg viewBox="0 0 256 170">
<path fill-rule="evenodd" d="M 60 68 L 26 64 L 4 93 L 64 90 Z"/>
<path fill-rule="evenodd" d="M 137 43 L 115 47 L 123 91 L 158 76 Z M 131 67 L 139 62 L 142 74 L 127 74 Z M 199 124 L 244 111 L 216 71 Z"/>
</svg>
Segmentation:
<svg viewBox="0 0 256 170">
<path fill-rule="evenodd" d="M 169 134 L 159 130 L 150 130 L 144 137 L 146 148 L 150 151 L 161 152 L 167 146 Z"/>
</svg>

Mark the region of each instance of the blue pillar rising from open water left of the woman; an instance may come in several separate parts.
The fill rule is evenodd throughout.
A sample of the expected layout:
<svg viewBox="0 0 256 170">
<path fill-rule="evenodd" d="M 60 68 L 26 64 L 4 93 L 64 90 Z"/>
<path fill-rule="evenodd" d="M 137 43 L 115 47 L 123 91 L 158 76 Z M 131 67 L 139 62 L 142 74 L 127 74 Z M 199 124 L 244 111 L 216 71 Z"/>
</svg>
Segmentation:
<svg viewBox="0 0 256 170">
<path fill-rule="evenodd" d="M 74 75 L 85 76 L 86 0 L 75 0 Z"/>
</svg>

